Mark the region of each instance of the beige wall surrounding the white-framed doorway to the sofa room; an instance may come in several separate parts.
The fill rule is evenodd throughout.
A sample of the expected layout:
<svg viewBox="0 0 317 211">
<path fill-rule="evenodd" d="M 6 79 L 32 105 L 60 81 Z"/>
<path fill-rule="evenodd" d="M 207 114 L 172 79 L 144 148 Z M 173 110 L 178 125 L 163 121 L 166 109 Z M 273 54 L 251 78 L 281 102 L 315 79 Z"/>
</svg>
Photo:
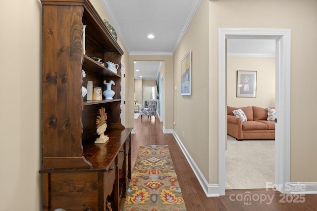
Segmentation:
<svg viewBox="0 0 317 211">
<path fill-rule="evenodd" d="M 291 29 L 291 182 L 317 181 L 317 110 L 306 109 L 306 105 L 317 103 L 316 20 L 316 0 L 210 1 L 210 75 L 217 75 L 220 27 Z M 210 83 L 217 84 L 217 79 L 210 77 Z M 211 84 L 210 91 L 217 90 Z M 216 101 L 217 92 L 211 92 L 210 97 Z M 210 107 L 218 109 L 217 105 Z M 214 116 L 210 114 L 210 118 Z M 212 120 L 210 129 L 217 127 L 216 122 Z M 210 143 L 216 145 L 217 141 L 216 131 Z M 217 154 L 217 149 L 211 153 Z M 210 175 L 217 171 L 217 160 L 212 161 L 211 167 Z M 217 180 L 210 178 L 210 182 Z"/>
</svg>

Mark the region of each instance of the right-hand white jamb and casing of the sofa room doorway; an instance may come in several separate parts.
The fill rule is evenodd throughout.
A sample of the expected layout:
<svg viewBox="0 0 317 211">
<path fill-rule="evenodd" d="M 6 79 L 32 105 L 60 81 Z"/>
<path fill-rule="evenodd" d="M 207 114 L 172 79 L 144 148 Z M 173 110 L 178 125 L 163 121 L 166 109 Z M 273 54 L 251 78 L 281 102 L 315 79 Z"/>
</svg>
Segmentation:
<svg viewBox="0 0 317 211">
<path fill-rule="evenodd" d="M 276 39 L 276 114 L 275 125 L 275 183 L 290 181 L 290 127 L 291 127 L 291 31 L 280 32 Z M 281 186 L 279 186 L 281 187 Z M 278 191 L 285 193 L 285 185 Z"/>
</svg>

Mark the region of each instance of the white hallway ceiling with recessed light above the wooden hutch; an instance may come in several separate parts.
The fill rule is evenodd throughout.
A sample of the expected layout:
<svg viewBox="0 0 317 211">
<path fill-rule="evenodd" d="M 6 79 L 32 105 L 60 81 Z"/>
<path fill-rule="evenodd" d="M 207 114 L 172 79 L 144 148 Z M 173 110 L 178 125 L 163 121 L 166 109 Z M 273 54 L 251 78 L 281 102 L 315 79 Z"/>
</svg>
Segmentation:
<svg viewBox="0 0 317 211">
<path fill-rule="evenodd" d="M 201 0 L 101 0 L 130 55 L 172 55 Z M 153 34 L 154 39 L 148 39 Z"/>
</svg>

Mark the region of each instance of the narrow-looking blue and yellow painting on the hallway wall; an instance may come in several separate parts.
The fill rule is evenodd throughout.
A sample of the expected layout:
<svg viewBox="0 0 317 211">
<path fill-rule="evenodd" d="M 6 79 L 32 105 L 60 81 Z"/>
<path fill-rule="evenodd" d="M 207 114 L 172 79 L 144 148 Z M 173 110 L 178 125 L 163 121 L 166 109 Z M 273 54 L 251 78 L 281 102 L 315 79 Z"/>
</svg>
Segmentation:
<svg viewBox="0 0 317 211">
<path fill-rule="evenodd" d="M 181 61 L 180 94 L 192 95 L 192 51 L 188 51 Z"/>
</svg>

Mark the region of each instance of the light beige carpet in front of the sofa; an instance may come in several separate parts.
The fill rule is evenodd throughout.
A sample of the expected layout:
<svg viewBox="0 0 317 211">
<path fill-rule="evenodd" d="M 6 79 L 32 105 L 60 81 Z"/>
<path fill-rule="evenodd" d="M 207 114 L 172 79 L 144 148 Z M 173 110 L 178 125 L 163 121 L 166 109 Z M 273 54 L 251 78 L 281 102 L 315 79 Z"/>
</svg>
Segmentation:
<svg viewBox="0 0 317 211">
<path fill-rule="evenodd" d="M 275 141 L 237 141 L 228 135 L 226 189 L 260 189 L 274 183 Z"/>
</svg>

